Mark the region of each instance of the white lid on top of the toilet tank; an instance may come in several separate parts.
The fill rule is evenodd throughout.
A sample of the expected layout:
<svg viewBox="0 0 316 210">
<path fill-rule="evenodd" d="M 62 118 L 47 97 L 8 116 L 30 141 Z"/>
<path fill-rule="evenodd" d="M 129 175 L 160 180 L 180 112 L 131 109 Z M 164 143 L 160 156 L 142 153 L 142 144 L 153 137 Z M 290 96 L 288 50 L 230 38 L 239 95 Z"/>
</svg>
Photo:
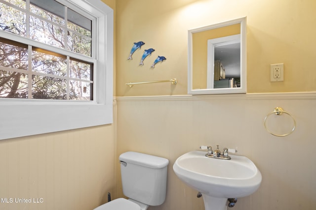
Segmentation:
<svg viewBox="0 0 316 210">
<path fill-rule="evenodd" d="M 169 160 L 166 158 L 135 151 L 127 151 L 122 153 L 119 155 L 119 160 L 126 163 L 132 163 L 154 169 L 164 168 L 169 164 Z"/>
</svg>

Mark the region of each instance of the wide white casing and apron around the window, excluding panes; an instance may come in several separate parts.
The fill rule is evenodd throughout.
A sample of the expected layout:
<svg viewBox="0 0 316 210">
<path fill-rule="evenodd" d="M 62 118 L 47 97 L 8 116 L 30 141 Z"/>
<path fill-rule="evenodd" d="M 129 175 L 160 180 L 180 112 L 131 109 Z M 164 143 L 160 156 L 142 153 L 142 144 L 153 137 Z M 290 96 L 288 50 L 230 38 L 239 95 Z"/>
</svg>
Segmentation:
<svg viewBox="0 0 316 210">
<path fill-rule="evenodd" d="M 57 1 L 70 8 L 80 8 L 96 18 L 94 81 L 97 88 L 93 90 L 94 100 L 0 98 L 0 140 L 113 122 L 113 9 L 101 0 Z"/>
</svg>

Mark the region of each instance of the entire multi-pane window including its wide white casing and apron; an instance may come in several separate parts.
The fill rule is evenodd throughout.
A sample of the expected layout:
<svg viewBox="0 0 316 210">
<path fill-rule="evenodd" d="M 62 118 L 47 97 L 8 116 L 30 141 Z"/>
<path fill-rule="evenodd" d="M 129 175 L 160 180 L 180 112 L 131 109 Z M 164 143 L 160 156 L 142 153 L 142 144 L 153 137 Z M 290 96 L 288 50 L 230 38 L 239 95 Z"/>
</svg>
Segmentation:
<svg viewBox="0 0 316 210">
<path fill-rule="evenodd" d="M 112 99 L 110 7 L 0 0 L 0 139 L 112 123 Z"/>
</svg>

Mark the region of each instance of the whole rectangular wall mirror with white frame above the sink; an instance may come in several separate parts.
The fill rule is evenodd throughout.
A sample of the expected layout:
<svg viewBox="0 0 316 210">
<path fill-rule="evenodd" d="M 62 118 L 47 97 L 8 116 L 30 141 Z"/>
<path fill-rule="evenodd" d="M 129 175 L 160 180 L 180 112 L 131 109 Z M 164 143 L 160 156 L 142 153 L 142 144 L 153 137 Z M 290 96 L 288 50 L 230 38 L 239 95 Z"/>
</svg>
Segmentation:
<svg viewBox="0 0 316 210">
<path fill-rule="evenodd" d="M 245 93 L 246 17 L 188 33 L 188 94 Z"/>
</svg>

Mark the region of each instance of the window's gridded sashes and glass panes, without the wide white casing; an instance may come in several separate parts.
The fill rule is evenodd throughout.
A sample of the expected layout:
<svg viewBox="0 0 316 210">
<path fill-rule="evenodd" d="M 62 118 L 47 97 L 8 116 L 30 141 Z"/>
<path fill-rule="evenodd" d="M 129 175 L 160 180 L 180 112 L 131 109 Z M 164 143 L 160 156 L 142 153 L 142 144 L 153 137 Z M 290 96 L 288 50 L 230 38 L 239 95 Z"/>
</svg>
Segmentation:
<svg viewBox="0 0 316 210">
<path fill-rule="evenodd" d="M 25 37 L 0 38 L 0 97 L 93 100 L 94 18 L 55 0 L 0 1 L 0 11 L 0 30 Z"/>
</svg>

